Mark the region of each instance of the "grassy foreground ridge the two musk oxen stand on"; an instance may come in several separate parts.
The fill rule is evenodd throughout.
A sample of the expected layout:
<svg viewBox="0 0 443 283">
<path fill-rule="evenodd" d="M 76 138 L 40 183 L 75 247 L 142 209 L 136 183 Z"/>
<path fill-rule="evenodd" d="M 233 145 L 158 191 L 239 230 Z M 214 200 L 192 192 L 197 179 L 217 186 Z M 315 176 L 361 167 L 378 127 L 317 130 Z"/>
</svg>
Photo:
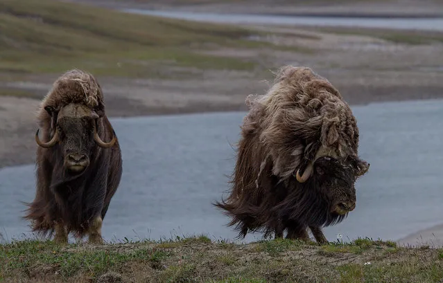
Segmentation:
<svg viewBox="0 0 443 283">
<path fill-rule="evenodd" d="M 0 282 L 442 282 L 443 250 L 272 240 L 236 245 L 192 237 L 163 242 L 0 246 Z"/>
</svg>

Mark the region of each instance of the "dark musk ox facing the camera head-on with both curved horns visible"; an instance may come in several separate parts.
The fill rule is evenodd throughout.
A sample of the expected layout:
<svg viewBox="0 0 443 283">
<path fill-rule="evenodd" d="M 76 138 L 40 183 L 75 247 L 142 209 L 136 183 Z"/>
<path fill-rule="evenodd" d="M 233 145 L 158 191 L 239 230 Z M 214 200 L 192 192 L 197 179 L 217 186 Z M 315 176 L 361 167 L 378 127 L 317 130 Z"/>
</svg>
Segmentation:
<svg viewBox="0 0 443 283">
<path fill-rule="evenodd" d="M 64 73 L 37 113 L 37 189 L 24 217 L 34 232 L 59 243 L 89 236 L 100 244 L 102 221 L 119 186 L 119 141 L 105 113 L 103 92 L 93 75 Z"/>
</svg>

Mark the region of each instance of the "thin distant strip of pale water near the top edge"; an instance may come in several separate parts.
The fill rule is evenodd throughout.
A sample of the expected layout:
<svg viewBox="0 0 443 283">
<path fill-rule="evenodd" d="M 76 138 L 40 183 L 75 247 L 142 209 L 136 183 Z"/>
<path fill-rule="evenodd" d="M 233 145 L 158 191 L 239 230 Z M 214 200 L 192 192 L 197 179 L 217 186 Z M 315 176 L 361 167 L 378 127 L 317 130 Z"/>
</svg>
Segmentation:
<svg viewBox="0 0 443 283">
<path fill-rule="evenodd" d="M 205 21 L 219 24 L 266 24 L 296 26 L 342 26 L 360 28 L 392 28 L 401 30 L 443 31 L 443 18 L 377 18 L 377 17 L 304 17 L 284 15 L 218 14 L 165 10 L 122 9 L 124 12 Z"/>
</svg>

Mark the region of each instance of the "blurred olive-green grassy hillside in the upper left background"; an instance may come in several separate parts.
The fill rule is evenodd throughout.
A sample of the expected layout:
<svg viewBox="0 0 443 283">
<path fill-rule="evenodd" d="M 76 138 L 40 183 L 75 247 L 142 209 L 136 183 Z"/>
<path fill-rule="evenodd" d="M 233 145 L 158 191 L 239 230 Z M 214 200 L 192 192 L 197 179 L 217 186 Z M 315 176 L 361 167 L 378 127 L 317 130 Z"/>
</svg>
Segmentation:
<svg viewBox="0 0 443 283">
<path fill-rule="evenodd" d="M 164 64 L 250 69 L 253 62 L 199 54 L 220 46 L 263 46 L 232 26 L 130 15 L 55 0 L 0 1 L 0 72 L 144 76 Z"/>
</svg>

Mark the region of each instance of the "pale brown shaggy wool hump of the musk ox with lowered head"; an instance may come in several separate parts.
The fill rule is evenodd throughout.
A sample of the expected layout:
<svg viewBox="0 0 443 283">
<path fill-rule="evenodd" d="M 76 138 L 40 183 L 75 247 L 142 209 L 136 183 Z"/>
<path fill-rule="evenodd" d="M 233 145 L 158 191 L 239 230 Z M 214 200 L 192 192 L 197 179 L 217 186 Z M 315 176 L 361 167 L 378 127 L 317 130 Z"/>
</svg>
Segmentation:
<svg viewBox="0 0 443 283">
<path fill-rule="evenodd" d="M 356 154 L 358 127 L 349 105 L 328 80 L 309 68 L 279 69 L 269 91 L 249 96 L 246 102 L 250 112 L 243 121 L 243 136 L 259 135 L 265 147 L 261 160 L 269 154 L 272 173 L 283 179 L 302 162 L 314 161 L 320 147 L 331 156 Z"/>
</svg>

